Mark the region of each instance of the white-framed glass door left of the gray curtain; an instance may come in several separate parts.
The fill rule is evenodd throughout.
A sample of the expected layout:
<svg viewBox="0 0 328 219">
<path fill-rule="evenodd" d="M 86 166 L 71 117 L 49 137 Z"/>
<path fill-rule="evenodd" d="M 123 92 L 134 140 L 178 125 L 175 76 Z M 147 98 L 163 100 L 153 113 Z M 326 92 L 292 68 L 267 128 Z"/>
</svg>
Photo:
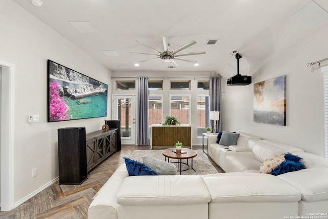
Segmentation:
<svg viewBox="0 0 328 219">
<path fill-rule="evenodd" d="M 120 120 L 121 144 L 136 144 L 135 95 L 113 95 L 113 120 Z"/>
</svg>

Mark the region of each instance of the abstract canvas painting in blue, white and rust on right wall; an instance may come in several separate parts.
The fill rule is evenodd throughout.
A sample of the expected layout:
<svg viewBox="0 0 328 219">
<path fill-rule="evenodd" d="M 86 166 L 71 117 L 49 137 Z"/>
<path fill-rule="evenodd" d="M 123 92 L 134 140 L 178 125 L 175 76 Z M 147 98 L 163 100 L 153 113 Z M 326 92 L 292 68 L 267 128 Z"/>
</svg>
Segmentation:
<svg viewBox="0 0 328 219">
<path fill-rule="evenodd" d="M 254 84 L 254 122 L 286 125 L 286 75 Z"/>
</svg>

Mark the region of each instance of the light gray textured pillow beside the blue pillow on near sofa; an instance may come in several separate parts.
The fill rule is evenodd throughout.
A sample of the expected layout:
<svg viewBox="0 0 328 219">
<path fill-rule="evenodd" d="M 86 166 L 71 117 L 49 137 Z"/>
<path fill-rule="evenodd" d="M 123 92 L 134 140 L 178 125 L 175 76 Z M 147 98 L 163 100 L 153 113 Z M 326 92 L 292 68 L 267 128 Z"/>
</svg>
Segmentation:
<svg viewBox="0 0 328 219">
<path fill-rule="evenodd" d="M 176 166 L 152 156 L 142 156 L 142 163 L 154 170 L 158 175 L 175 175 Z"/>
</svg>

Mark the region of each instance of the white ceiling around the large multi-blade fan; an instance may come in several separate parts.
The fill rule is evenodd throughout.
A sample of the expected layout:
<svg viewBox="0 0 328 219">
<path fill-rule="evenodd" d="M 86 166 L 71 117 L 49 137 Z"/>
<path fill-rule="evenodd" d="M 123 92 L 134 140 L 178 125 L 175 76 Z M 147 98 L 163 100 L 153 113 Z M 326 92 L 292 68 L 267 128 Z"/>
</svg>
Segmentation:
<svg viewBox="0 0 328 219">
<path fill-rule="evenodd" d="M 311 29 L 292 16 L 311 0 L 42 0 L 41 7 L 30 0 L 13 1 L 113 71 L 215 71 L 231 75 L 236 73 L 237 63 L 228 53 L 233 50 L 243 56 L 240 69 L 254 71 L 255 65 Z M 328 1 L 315 2 L 328 10 Z M 72 22 L 89 22 L 94 29 L 81 33 Z M 206 51 L 186 56 L 200 65 L 176 61 L 179 67 L 168 69 L 173 63 L 156 60 L 135 67 L 139 61 L 156 57 L 130 53 L 154 53 L 136 40 L 162 51 L 162 35 L 168 36 L 170 50 L 196 41 L 181 52 Z M 208 39 L 218 42 L 208 46 Z M 104 50 L 114 51 L 106 56 Z"/>
</svg>

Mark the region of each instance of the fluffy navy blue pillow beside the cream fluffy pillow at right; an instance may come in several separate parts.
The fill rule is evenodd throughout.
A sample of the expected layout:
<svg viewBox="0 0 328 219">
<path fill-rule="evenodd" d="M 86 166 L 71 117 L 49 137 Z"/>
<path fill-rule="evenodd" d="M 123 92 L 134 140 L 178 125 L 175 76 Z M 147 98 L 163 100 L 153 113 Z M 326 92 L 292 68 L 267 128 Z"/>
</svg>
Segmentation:
<svg viewBox="0 0 328 219">
<path fill-rule="evenodd" d="M 301 162 L 302 158 L 290 153 L 284 155 L 285 161 L 283 161 L 278 167 L 271 171 L 272 175 L 280 175 L 292 171 L 297 171 L 305 168 L 305 165 Z"/>
</svg>

